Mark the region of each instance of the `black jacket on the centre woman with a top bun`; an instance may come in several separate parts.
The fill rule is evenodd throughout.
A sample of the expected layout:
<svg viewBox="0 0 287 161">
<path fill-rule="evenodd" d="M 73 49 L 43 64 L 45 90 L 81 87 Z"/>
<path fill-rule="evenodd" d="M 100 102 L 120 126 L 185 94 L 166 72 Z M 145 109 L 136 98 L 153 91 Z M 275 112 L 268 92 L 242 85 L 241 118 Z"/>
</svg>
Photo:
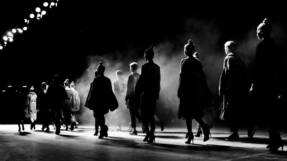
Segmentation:
<svg viewBox="0 0 287 161">
<path fill-rule="evenodd" d="M 141 66 L 141 75 L 135 86 L 135 96 L 144 94 L 151 100 L 159 100 L 160 94 L 160 67 L 153 61 Z"/>
</svg>

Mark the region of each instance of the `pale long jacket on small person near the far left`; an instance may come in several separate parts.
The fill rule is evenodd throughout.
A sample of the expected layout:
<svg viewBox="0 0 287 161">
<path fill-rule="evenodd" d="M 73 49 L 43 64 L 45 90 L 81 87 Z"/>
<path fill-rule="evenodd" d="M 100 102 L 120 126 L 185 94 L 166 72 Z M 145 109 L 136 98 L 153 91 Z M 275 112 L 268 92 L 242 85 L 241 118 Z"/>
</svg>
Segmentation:
<svg viewBox="0 0 287 161">
<path fill-rule="evenodd" d="M 30 92 L 26 99 L 26 107 L 28 112 L 28 117 L 36 120 L 37 118 L 37 109 L 36 109 L 36 100 L 37 95 L 34 92 Z"/>
</svg>

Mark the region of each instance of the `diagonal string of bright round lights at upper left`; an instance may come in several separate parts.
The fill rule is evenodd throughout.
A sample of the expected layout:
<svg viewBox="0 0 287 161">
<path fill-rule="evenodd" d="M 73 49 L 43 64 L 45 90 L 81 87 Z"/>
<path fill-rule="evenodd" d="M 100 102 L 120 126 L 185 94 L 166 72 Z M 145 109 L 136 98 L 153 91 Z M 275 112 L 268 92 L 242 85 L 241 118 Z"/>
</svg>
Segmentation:
<svg viewBox="0 0 287 161">
<path fill-rule="evenodd" d="M 18 27 L 13 27 L 12 29 L 9 29 L 5 35 L 3 35 L 2 40 L 3 42 L 0 42 L 0 50 L 2 50 L 9 42 L 14 41 L 14 36 L 16 34 L 22 34 L 23 31 L 26 31 L 28 29 L 28 25 L 30 21 L 33 21 L 34 19 L 40 20 L 42 19 L 42 16 L 46 15 L 46 11 L 48 9 L 52 9 L 53 7 L 57 7 L 59 0 L 51 0 L 50 2 L 44 2 L 43 6 L 36 7 L 35 11 L 33 11 L 29 18 L 24 19 L 24 24 Z M 48 7 L 49 6 L 49 7 Z"/>
</svg>

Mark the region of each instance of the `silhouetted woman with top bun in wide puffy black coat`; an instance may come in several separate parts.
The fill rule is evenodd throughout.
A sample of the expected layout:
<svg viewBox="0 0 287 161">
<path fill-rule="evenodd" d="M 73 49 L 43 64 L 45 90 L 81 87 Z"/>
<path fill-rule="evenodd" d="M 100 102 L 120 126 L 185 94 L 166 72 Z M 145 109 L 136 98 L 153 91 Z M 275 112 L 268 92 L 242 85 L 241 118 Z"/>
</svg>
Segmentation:
<svg viewBox="0 0 287 161">
<path fill-rule="evenodd" d="M 94 117 L 101 127 L 99 138 L 103 139 L 108 136 L 108 127 L 105 125 L 104 115 L 108 113 L 109 108 L 107 105 L 113 90 L 110 79 L 104 76 L 105 67 L 102 62 L 99 62 L 97 71 L 99 76 L 95 77 L 92 83 L 88 107 L 94 110 Z"/>
</svg>

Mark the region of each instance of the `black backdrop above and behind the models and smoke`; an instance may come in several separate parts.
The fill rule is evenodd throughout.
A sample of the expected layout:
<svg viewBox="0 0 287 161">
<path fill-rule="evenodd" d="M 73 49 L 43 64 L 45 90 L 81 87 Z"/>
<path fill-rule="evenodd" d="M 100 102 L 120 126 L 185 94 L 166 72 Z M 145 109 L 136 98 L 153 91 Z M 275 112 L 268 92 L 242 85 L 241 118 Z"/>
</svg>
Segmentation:
<svg viewBox="0 0 287 161">
<path fill-rule="evenodd" d="M 36 7 L 44 8 L 44 2 L 1 2 L 0 44 L 8 30 L 24 27 L 24 19 L 28 19 Z M 249 42 L 247 34 L 252 31 L 253 35 L 250 37 L 254 44 L 249 45 L 250 49 L 244 48 L 247 45 L 241 45 L 240 49 L 246 50 L 242 57 L 250 62 L 247 63 L 248 89 L 251 85 L 255 47 L 260 42 L 256 40 L 256 27 L 264 18 L 269 18 L 276 25 L 273 28 L 277 31 L 271 36 L 274 36 L 284 55 L 283 60 L 272 57 L 272 54 L 270 59 L 283 61 L 284 74 L 286 73 L 287 19 L 281 2 L 59 0 L 57 7 L 45 10 L 47 13 L 42 19 L 30 21 L 27 31 L 23 31 L 22 35 L 14 35 L 14 41 L 8 42 L 0 50 L 0 88 L 1 91 L 6 90 L 1 92 L 0 106 L 4 109 L 1 122 L 7 123 L 5 118 L 13 111 L 12 93 L 16 84 L 28 86 L 23 89 L 24 94 L 28 95 L 31 86 L 38 91 L 42 82 L 51 84 L 56 74 L 61 75 L 62 82 L 66 77 L 70 80 L 82 77 L 89 66 L 87 57 L 108 55 L 113 62 L 123 60 L 128 55 L 129 60 L 138 60 L 151 44 L 172 42 L 172 51 L 183 53 L 183 46 L 188 39 L 193 39 L 186 39 L 183 35 L 190 33 L 197 33 L 198 40 L 195 44 L 198 42 L 201 45 L 198 49 L 200 53 L 205 51 L 218 57 L 218 64 L 222 66 L 225 57 L 224 43 L 229 40 L 239 42 L 239 45 L 240 42 Z M 188 25 L 193 22 L 198 25 Z M 205 35 L 206 31 L 208 35 Z M 199 39 L 201 34 L 202 39 Z M 172 52 L 166 55 L 171 57 Z M 203 56 L 203 60 L 205 59 L 208 57 Z M 217 72 L 214 73 L 213 66 L 202 62 L 209 86 L 214 92 L 218 89 L 222 69 L 216 68 Z M 128 67 L 124 69 L 129 70 Z M 86 99 L 86 94 L 81 96 L 82 100 Z"/>
</svg>

